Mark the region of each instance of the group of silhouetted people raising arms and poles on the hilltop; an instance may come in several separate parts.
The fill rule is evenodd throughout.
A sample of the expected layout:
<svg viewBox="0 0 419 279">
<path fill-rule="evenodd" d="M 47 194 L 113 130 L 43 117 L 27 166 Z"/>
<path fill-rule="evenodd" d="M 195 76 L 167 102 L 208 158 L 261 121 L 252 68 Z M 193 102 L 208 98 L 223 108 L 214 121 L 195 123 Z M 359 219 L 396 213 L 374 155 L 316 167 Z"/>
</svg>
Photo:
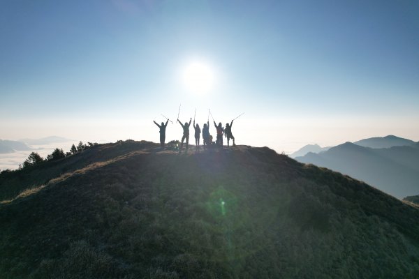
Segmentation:
<svg viewBox="0 0 419 279">
<path fill-rule="evenodd" d="M 213 119 L 214 121 L 214 119 Z M 221 122 L 216 124 L 216 121 L 214 121 L 214 127 L 216 129 L 216 142 L 213 142 L 213 137 L 210 134 L 210 119 L 208 119 L 207 123 L 204 123 L 203 129 L 202 129 L 202 135 L 203 135 L 203 149 L 208 149 L 212 147 L 218 147 L 223 148 L 223 137 L 227 138 L 227 146 L 230 146 L 230 140 L 233 140 L 233 146 L 235 146 L 235 137 L 233 136 L 233 133 L 231 132 L 231 128 L 233 126 L 233 121 L 230 123 L 226 123 L 226 127 L 223 127 Z M 167 119 L 166 123 L 161 122 L 161 125 L 156 123 L 156 121 L 153 121 L 156 126 L 159 127 L 159 133 L 160 133 L 160 145 L 161 149 L 165 148 L 165 142 L 166 142 L 166 127 L 168 126 L 169 119 Z M 185 151 L 188 151 L 189 149 L 189 127 L 191 126 L 192 117 L 189 119 L 189 122 L 182 123 L 182 121 L 177 119 L 177 122 L 179 122 L 180 126 L 182 127 L 182 140 L 179 147 L 179 153 L 182 151 L 184 142 L 185 142 Z M 201 135 L 201 129 L 198 123 L 195 123 L 195 119 L 193 119 L 193 129 L 195 130 L 194 136 L 195 136 L 195 144 L 196 144 L 196 150 L 200 149 L 200 135 Z"/>
</svg>

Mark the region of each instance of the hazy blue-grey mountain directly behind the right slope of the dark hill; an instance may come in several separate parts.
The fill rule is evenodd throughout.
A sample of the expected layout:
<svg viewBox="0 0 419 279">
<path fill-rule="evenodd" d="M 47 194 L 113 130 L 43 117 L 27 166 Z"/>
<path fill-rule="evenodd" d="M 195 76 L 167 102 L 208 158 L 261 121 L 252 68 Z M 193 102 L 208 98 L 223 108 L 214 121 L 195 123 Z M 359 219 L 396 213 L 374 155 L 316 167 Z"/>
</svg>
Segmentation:
<svg viewBox="0 0 419 279">
<path fill-rule="evenodd" d="M 415 145 L 371 149 L 346 142 L 295 160 L 348 174 L 400 199 L 418 193 L 419 149 Z"/>
</svg>

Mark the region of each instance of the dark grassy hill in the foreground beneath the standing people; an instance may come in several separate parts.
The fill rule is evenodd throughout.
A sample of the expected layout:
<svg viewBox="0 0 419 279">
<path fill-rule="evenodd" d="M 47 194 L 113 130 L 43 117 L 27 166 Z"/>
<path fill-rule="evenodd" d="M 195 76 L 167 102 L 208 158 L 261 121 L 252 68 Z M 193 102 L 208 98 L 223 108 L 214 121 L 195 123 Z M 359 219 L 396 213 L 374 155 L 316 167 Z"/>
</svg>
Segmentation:
<svg viewBox="0 0 419 279">
<path fill-rule="evenodd" d="M 417 208 L 266 147 L 94 146 L 1 174 L 0 224 L 0 278 L 419 278 Z"/>
</svg>

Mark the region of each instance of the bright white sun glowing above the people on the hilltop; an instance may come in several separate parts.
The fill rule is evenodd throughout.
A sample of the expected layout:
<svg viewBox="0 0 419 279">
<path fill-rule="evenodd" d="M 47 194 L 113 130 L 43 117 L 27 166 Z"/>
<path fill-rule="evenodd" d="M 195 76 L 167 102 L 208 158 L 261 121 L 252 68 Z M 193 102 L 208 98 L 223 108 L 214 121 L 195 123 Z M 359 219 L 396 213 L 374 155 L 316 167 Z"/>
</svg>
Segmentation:
<svg viewBox="0 0 419 279">
<path fill-rule="evenodd" d="M 207 93 L 214 86 L 214 69 L 204 61 L 192 61 L 182 72 L 182 82 L 193 93 Z"/>
</svg>

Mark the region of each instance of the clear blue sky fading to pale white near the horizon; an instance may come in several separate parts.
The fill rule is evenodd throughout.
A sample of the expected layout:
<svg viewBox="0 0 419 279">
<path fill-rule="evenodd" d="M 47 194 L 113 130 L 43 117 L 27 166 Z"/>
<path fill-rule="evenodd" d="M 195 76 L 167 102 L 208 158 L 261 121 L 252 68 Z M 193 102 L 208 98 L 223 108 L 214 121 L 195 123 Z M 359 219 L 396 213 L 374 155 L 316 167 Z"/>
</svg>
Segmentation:
<svg viewBox="0 0 419 279">
<path fill-rule="evenodd" d="M 0 1 L 0 139 L 159 142 L 209 109 L 278 152 L 419 141 L 419 2 Z"/>
</svg>

